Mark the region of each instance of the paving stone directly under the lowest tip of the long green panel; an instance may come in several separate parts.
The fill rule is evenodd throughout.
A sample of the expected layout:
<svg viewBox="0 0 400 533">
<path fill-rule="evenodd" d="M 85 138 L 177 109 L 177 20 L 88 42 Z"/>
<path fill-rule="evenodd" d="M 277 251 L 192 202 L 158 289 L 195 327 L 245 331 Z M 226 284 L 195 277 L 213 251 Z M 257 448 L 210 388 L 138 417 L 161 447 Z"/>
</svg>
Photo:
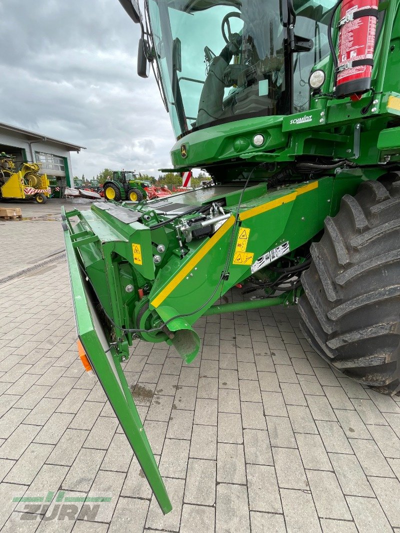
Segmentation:
<svg viewBox="0 0 400 533">
<path fill-rule="evenodd" d="M 185 481 L 183 479 L 165 478 L 164 483 L 171 500 L 172 511 L 164 515 L 153 495 L 147 514 L 146 527 L 161 530 L 166 529 L 167 531 L 179 531 Z"/>
</svg>

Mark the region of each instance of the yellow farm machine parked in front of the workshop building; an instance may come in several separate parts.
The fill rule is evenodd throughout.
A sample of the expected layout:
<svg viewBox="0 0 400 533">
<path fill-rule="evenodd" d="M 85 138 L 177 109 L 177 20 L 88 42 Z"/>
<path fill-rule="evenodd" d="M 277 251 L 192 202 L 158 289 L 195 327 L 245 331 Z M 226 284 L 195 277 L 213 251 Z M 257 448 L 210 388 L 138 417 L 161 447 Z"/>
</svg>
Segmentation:
<svg viewBox="0 0 400 533">
<path fill-rule="evenodd" d="M 38 163 L 22 163 L 18 172 L 12 156 L 0 154 L 0 199 L 35 200 L 45 204 L 51 195 L 46 174 L 38 174 Z"/>
</svg>

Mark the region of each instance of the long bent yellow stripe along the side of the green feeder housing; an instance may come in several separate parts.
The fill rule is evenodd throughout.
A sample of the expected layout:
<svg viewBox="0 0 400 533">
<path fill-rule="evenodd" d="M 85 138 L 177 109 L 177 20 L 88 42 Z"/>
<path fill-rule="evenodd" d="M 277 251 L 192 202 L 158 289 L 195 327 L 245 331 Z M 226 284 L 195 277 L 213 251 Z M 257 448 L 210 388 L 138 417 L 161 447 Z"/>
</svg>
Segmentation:
<svg viewBox="0 0 400 533">
<path fill-rule="evenodd" d="M 247 211 L 244 211 L 239 215 L 239 220 L 246 220 L 250 219 L 252 216 L 259 215 L 260 213 L 265 213 L 266 211 L 269 211 L 270 209 L 274 209 L 275 207 L 278 207 L 282 204 L 287 204 L 291 201 L 293 201 L 297 196 L 302 195 L 305 192 L 312 191 L 313 189 L 318 188 L 318 181 L 314 181 L 312 183 L 308 183 L 307 185 L 303 185 L 302 187 L 299 187 L 294 192 L 291 192 L 289 195 L 282 196 L 281 198 L 276 198 L 275 200 L 269 201 L 267 204 L 262 204 L 257 207 L 252 207 L 251 209 L 248 209 Z M 169 284 L 163 288 L 161 293 L 159 293 L 154 300 L 152 300 L 150 303 L 154 307 L 158 307 L 167 296 L 169 296 L 173 289 L 177 287 L 182 279 L 186 278 L 186 276 L 190 273 L 191 270 L 195 268 L 195 266 L 203 259 L 203 257 L 211 250 L 211 248 L 218 243 L 218 241 L 225 235 L 225 233 L 233 226 L 235 222 L 235 217 L 231 216 L 225 224 L 222 225 L 222 227 L 214 233 L 214 235 L 208 240 L 204 246 L 199 249 L 199 251 L 194 255 L 191 260 L 180 270 L 177 275 L 169 282 Z M 246 263 L 245 263 L 246 264 Z"/>
</svg>

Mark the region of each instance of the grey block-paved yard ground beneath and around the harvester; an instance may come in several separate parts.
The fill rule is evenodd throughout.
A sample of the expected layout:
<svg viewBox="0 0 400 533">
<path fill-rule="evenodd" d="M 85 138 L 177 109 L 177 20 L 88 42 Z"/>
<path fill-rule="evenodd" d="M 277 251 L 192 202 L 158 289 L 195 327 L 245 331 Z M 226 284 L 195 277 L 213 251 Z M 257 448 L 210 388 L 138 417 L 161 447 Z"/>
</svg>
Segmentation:
<svg viewBox="0 0 400 533">
<path fill-rule="evenodd" d="M 36 257 L 23 224 L 0 225 L 2 257 L 23 250 L 14 270 Z M 49 243 L 39 259 L 62 247 L 59 223 L 29 224 Z M 190 366 L 135 346 L 125 372 L 173 502 L 164 517 L 77 359 L 65 261 L 45 269 L 1 286 L 2 533 L 400 532 L 400 398 L 333 372 L 281 308 L 199 320 Z"/>
</svg>

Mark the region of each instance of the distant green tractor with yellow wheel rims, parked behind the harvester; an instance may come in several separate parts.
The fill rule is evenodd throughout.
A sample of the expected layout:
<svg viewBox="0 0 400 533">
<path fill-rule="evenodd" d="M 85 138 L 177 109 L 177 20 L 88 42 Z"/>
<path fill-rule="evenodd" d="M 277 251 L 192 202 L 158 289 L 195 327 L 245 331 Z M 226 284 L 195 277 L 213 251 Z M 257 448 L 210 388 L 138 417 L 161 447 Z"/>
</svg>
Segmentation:
<svg viewBox="0 0 400 533">
<path fill-rule="evenodd" d="M 146 200 L 146 188 L 150 186 L 149 181 L 138 179 L 138 174 L 134 174 L 132 171 L 114 171 L 113 178 L 104 183 L 104 197 L 106 201 L 129 200 L 139 202 Z"/>
</svg>

